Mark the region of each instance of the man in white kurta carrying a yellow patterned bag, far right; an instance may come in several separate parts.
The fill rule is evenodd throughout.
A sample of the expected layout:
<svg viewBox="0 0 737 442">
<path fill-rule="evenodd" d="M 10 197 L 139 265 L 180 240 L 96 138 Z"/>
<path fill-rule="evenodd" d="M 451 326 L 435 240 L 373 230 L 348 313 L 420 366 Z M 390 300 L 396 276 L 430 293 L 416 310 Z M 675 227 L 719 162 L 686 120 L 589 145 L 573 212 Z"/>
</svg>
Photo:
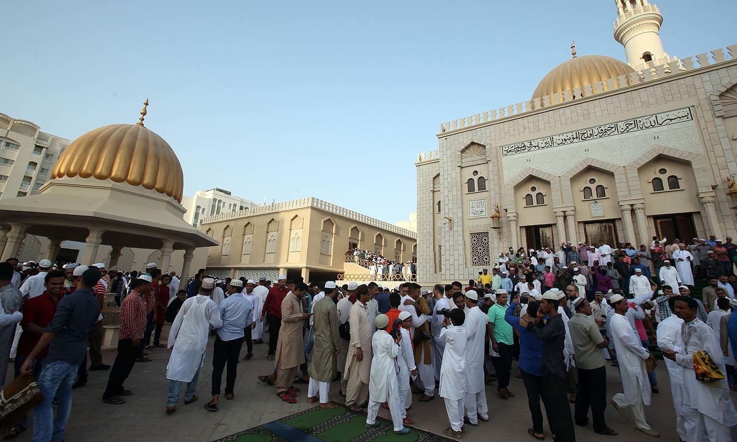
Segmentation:
<svg viewBox="0 0 737 442">
<path fill-rule="evenodd" d="M 696 318 L 697 309 L 694 299 L 675 298 L 673 313 L 684 321 L 681 330 L 684 349 L 682 353 L 663 351 L 663 356 L 675 360 L 683 369 L 685 441 L 732 441 L 729 427 L 737 425 L 737 410 L 730 398 L 727 379 L 702 382 L 694 372 L 694 354 L 705 351 L 716 367 L 726 373 L 719 341 L 710 327 Z"/>
</svg>

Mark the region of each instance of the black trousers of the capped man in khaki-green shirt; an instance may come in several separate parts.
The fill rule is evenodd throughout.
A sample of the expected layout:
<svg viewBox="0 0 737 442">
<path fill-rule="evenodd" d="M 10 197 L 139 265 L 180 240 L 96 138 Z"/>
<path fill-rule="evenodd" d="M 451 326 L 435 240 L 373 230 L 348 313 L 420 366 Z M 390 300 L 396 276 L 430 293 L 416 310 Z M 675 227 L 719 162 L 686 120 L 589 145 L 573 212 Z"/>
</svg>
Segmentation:
<svg viewBox="0 0 737 442">
<path fill-rule="evenodd" d="M 579 368 L 579 385 L 576 390 L 576 407 L 574 417 L 576 424 L 584 425 L 588 421 L 589 407 L 593 417 L 594 431 L 607 429 L 604 422 L 604 410 L 607 408 L 607 368 L 593 370 Z"/>
</svg>

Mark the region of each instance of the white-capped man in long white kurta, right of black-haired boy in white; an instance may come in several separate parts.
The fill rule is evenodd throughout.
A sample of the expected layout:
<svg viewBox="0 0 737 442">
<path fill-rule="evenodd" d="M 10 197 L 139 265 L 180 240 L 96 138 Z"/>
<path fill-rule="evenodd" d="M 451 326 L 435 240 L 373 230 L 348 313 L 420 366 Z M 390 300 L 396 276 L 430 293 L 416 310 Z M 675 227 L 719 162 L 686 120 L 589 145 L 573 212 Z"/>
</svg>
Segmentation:
<svg viewBox="0 0 737 442">
<path fill-rule="evenodd" d="M 464 408 L 470 424 L 478 425 L 478 419 L 489 420 L 486 405 L 486 385 L 483 382 L 484 340 L 489 317 L 478 308 L 478 294 L 475 290 L 466 292 L 466 305 L 469 307 L 466 320 L 466 399 Z"/>
</svg>

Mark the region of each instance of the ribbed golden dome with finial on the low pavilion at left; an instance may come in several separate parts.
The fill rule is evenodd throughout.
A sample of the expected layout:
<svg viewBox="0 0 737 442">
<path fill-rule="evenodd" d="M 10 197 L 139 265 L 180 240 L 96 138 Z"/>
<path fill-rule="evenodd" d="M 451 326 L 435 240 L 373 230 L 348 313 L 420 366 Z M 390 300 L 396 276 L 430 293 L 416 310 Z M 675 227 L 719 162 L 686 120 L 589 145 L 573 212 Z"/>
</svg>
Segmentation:
<svg viewBox="0 0 737 442">
<path fill-rule="evenodd" d="M 184 174 L 177 155 L 164 138 L 142 122 L 109 124 L 72 141 L 59 157 L 52 179 L 77 175 L 125 181 L 131 186 L 156 189 L 179 203 L 182 200 Z"/>
</svg>

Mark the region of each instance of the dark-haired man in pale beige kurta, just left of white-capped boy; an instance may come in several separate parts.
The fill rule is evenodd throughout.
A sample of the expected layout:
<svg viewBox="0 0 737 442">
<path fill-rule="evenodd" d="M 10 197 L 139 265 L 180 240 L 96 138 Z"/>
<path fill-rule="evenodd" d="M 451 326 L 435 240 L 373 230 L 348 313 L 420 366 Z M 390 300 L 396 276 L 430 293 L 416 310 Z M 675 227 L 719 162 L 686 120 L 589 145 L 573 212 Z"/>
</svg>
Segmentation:
<svg viewBox="0 0 737 442">
<path fill-rule="evenodd" d="M 351 327 L 351 343 L 348 347 L 346 369 L 346 407 L 351 411 L 361 411 L 360 407 L 368 401 L 368 378 L 371 376 L 371 337 L 374 326 L 368 322 L 368 307 L 371 299 L 368 287 L 361 284 L 356 289 L 357 301 L 351 307 L 348 323 Z"/>
</svg>

